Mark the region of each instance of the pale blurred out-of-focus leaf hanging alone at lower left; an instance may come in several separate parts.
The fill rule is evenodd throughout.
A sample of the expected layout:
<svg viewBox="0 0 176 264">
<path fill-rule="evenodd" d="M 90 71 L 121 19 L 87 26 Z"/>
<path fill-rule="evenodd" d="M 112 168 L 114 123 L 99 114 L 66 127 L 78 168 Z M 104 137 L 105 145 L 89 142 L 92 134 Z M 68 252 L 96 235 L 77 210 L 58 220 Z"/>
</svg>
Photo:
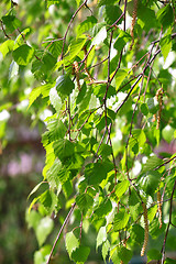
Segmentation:
<svg viewBox="0 0 176 264">
<path fill-rule="evenodd" d="M 41 219 L 36 228 L 36 239 L 41 246 L 54 228 L 54 222 L 50 217 Z"/>
</svg>

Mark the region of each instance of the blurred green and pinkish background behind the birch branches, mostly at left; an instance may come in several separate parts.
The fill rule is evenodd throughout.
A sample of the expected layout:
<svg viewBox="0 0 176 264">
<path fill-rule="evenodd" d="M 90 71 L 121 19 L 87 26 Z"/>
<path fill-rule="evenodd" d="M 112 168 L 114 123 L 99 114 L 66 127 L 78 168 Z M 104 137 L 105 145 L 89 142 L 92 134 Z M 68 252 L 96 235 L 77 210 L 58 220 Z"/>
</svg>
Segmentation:
<svg viewBox="0 0 176 264">
<path fill-rule="evenodd" d="M 1 0 L 0 18 L 11 9 L 18 13 L 21 26 L 26 30 L 30 44 L 42 50 L 46 36 L 58 38 L 64 35 L 70 16 L 76 10 L 76 1 L 61 0 L 59 8 L 51 6 L 46 9 L 44 0 L 15 0 L 15 3 Z M 20 35 L 16 30 L 7 33 L 12 40 Z M 1 30 L 0 44 L 6 37 Z M 0 53 L 0 263 L 3 264 L 44 263 L 40 258 L 42 253 L 37 252 L 40 245 L 33 230 L 36 226 L 35 221 L 40 222 L 41 217 L 34 212 L 34 221 L 33 215 L 31 218 L 28 215 L 31 202 L 28 196 L 43 179 L 45 151 L 41 143 L 41 135 L 45 131 L 44 120 L 53 114 L 52 106 L 46 109 L 45 100 L 40 98 L 28 109 L 29 95 L 40 84 L 37 72 L 34 78 L 28 67 L 18 66 L 12 62 L 11 54 L 8 54 L 4 59 Z M 157 152 L 165 152 L 165 150 L 170 154 L 175 153 L 175 142 L 169 145 L 164 142 Z M 62 202 L 65 202 L 64 198 Z M 43 251 L 51 251 L 51 245 L 65 216 L 66 211 L 61 210 L 58 218 L 53 219 L 55 230 L 50 232 L 46 245 L 42 248 Z M 91 246 L 88 263 L 101 264 L 102 257 L 95 250 L 95 230 L 90 229 L 82 240 Z M 162 243 L 163 238 L 158 241 L 158 248 Z M 175 250 L 175 244 L 176 239 L 169 242 L 170 250 Z M 56 257 L 52 263 L 73 263 L 68 258 L 64 241 L 59 243 L 59 248 L 56 246 Z M 136 251 L 136 255 L 139 253 Z M 136 256 L 131 263 L 145 262 Z"/>
</svg>

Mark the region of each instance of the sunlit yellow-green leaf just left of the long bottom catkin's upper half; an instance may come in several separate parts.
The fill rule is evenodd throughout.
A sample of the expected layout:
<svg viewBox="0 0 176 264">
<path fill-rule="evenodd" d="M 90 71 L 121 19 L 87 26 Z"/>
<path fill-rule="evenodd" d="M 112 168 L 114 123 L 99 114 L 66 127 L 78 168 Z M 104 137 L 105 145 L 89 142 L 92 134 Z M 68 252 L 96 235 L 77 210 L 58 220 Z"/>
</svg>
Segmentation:
<svg viewBox="0 0 176 264">
<path fill-rule="evenodd" d="M 122 230 L 127 227 L 130 215 L 125 211 L 120 211 L 114 216 L 113 229 L 114 231 Z"/>
</svg>

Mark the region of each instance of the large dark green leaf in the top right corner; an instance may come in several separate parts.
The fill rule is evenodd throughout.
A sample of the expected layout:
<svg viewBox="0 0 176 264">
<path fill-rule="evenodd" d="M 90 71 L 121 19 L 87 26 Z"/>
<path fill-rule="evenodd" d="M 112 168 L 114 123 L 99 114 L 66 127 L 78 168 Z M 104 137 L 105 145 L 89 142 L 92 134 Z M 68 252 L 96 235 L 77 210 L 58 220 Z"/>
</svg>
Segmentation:
<svg viewBox="0 0 176 264">
<path fill-rule="evenodd" d="M 166 4 L 164 8 L 158 10 L 157 20 L 164 29 L 167 29 L 172 25 L 174 21 L 174 14 L 170 4 Z"/>
</svg>

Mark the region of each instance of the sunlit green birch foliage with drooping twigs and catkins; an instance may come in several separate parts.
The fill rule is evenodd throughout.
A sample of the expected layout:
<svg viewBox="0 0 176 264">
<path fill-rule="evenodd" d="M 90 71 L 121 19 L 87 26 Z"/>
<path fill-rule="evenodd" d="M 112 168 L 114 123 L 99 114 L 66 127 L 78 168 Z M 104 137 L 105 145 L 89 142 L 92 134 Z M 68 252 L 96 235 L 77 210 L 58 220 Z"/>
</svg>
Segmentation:
<svg viewBox="0 0 176 264">
<path fill-rule="evenodd" d="M 147 261 L 163 261 L 175 219 L 174 1 L 138 1 L 136 10 L 118 0 L 20 2 L 26 18 L 21 3 L 3 1 L 0 21 L 0 139 L 3 148 L 13 108 L 45 127 L 43 179 L 26 215 L 40 246 L 34 263 L 56 257 L 62 239 L 70 261 L 87 262 L 89 229 L 105 262 L 128 264 L 147 229 Z M 15 107 L 23 100 L 25 110 Z M 62 227 L 52 249 L 53 217 Z M 152 249 L 156 239 L 161 249 Z"/>
</svg>

